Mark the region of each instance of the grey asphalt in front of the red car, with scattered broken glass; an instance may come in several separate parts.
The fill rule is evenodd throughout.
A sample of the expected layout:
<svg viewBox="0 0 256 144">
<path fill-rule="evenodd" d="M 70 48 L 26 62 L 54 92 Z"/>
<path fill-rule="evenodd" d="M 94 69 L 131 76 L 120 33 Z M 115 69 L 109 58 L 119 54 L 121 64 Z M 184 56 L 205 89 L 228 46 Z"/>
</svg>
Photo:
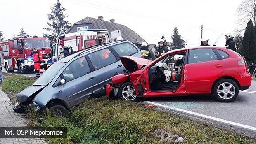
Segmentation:
<svg viewBox="0 0 256 144">
<path fill-rule="evenodd" d="M 256 81 L 252 81 L 252 85 L 248 90 L 239 91 L 234 102 L 223 103 L 218 102 L 214 96 L 184 96 L 169 98 L 150 98 L 145 99 L 148 102 L 154 102 L 170 109 L 182 109 L 188 111 L 189 114 L 202 114 L 206 118 L 218 119 L 254 127 L 249 130 L 256 135 Z M 238 126 L 239 128 L 239 126 Z M 244 129 L 244 128 L 243 128 Z"/>
</svg>

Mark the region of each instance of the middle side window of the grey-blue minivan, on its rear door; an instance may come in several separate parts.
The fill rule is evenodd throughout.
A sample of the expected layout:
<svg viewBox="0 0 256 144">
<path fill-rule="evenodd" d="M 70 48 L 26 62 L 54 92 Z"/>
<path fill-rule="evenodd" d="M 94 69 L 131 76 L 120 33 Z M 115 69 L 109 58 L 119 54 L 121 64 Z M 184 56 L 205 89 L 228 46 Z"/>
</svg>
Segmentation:
<svg viewBox="0 0 256 144">
<path fill-rule="evenodd" d="M 115 63 L 116 57 L 108 48 L 88 54 L 95 70 Z"/>
</svg>

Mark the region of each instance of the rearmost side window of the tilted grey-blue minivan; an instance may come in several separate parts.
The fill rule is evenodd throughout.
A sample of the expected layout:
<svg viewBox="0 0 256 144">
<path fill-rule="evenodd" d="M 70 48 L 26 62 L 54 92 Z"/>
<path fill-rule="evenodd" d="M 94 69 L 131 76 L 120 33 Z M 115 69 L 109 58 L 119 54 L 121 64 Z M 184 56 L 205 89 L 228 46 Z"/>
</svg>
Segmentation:
<svg viewBox="0 0 256 144">
<path fill-rule="evenodd" d="M 119 54 L 119 56 L 131 56 L 138 52 L 136 47 L 128 42 L 117 44 L 112 46 L 112 48 Z"/>
</svg>

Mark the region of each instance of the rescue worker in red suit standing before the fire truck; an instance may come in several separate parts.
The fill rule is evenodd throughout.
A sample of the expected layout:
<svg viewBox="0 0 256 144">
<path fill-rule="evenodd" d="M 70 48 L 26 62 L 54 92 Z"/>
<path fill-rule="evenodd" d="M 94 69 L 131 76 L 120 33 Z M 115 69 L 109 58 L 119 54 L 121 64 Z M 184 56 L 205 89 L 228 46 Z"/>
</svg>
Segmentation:
<svg viewBox="0 0 256 144">
<path fill-rule="evenodd" d="M 38 78 L 40 77 L 40 63 L 42 63 L 43 60 L 42 53 L 40 53 L 36 48 L 34 48 L 30 56 L 33 56 L 34 67 L 36 72 L 35 78 Z"/>
</svg>

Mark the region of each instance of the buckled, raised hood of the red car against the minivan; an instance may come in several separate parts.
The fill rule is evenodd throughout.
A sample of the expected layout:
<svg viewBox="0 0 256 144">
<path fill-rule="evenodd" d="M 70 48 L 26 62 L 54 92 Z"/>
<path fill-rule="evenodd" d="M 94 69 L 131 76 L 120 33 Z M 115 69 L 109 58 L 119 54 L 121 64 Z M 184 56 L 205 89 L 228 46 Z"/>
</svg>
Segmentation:
<svg viewBox="0 0 256 144">
<path fill-rule="evenodd" d="M 126 68 L 127 71 L 134 72 L 135 70 L 139 70 L 140 67 L 143 65 L 148 65 L 151 63 L 151 60 L 147 60 L 144 58 L 137 58 L 134 56 L 121 56 L 120 57 L 123 66 Z"/>
</svg>

